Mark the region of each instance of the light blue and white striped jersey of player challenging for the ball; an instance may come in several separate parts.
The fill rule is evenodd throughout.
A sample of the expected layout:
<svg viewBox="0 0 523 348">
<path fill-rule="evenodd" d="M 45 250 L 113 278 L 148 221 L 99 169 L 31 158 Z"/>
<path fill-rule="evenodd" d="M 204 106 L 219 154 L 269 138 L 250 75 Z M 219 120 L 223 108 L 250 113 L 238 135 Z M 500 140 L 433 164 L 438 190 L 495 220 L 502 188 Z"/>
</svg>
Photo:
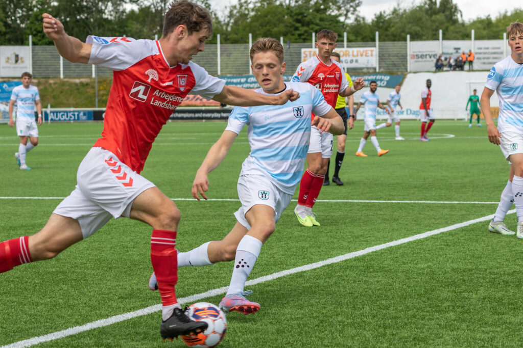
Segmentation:
<svg viewBox="0 0 523 348">
<path fill-rule="evenodd" d="M 323 94 L 310 83 L 286 82 L 300 98 L 283 105 L 236 106 L 226 130 L 240 134 L 247 124 L 251 153 L 242 165 L 245 174 L 262 174 L 282 191 L 293 194 L 303 174 L 311 137 L 311 112 L 325 115 L 332 109 Z M 263 89 L 255 90 L 267 94 Z M 267 94 L 274 95 L 274 94 Z"/>
</svg>

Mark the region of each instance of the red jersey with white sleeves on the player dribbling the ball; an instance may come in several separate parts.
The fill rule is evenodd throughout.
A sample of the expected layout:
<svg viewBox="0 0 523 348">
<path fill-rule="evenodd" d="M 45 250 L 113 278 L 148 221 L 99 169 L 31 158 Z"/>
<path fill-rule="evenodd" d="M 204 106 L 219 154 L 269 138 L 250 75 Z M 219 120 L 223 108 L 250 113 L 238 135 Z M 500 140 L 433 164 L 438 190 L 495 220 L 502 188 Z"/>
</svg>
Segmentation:
<svg viewBox="0 0 523 348">
<path fill-rule="evenodd" d="M 158 41 L 89 36 L 86 43 L 93 44 L 90 64 L 114 70 L 104 130 L 93 147 L 111 151 L 137 173 L 186 95 L 211 99 L 225 85 L 195 63 L 169 66 Z"/>
</svg>

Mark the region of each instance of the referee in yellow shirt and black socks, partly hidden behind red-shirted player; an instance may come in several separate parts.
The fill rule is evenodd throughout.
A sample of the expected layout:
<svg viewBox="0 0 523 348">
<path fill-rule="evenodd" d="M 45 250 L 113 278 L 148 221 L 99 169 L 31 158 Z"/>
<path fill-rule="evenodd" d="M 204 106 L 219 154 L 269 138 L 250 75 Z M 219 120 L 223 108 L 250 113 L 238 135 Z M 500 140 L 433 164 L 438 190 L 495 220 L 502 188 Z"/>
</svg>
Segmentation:
<svg viewBox="0 0 523 348">
<path fill-rule="evenodd" d="M 331 59 L 333 61 L 336 61 L 340 63 L 340 55 L 338 52 L 331 53 Z M 353 86 L 353 80 L 351 80 L 349 74 L 345 73 L 345 78 L 349 82 L 349 87 Z M 338 99 L 336 99 L 336 107 L 335 110 L 343 119 L 343 125 L 345 127 L 345 131 L 342 135 L 336 136 L 336 145 L 338 148 L 338 152 L 336 152 L 336 164 L 334 167 L 334 175 L 332 176 L 332 181 L 336 185 L 343 185 L 343 181 L 339 178 L 339 169 L 342 167 L 343 158 L 345 157 L 345 141 L 347 140 L 347 129 L 353 129 L 354 127 L 354 119 L 356 116 L 354 114 L 351 114 L 354 112 L 354 95 L 349 95 L 347 97 L 348 103 L 345 102 L 345 97 L 342 97 L 341 95 L 338 95 Z M 349 115 L 347 116 L 347 110 L 346 105 L 349 105 Z M 331 165 L 331 161 L 329 160 L 327 162 L 327 172 L 325 173 L 325 178 L 323 179 L 323 186 L 328 186 L 331 183 L 328 179 L 328 170 L 329 166 Z"/>
</svg>

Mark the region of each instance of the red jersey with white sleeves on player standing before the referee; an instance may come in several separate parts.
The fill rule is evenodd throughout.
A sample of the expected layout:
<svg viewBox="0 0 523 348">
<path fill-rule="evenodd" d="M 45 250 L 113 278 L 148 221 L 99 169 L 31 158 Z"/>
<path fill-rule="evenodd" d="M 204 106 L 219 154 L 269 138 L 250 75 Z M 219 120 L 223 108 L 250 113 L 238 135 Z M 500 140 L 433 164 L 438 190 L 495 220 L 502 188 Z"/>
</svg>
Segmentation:
<svg viewBox="0 0 523 348">
<path fill-rule="evenodd" d="M 338 93 L 349 86 L 342 66 L 331 60 L 330 65 L 326 65 L 318 56 L 308 59 L 301 63 L 292 76 L 293 82 L 309 82 L 319 89 L 327 104 L 336 106 Z"/>
</svg>

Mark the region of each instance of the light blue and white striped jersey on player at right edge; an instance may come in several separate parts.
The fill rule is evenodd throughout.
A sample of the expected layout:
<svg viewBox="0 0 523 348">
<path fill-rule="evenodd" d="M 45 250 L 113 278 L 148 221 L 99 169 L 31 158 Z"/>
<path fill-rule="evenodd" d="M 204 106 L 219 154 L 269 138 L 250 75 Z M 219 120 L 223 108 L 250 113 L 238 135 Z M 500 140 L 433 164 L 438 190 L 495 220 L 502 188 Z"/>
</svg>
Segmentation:
<svg viewBox="0 0 523 348">
<path fill-rule="evenodd" d="M 485 87 L 495 90 L 499 98 L 499 132 L 523 133 L 523 65 L 510 56 L 497 62 L 488 73 Z"/>
</svg>

